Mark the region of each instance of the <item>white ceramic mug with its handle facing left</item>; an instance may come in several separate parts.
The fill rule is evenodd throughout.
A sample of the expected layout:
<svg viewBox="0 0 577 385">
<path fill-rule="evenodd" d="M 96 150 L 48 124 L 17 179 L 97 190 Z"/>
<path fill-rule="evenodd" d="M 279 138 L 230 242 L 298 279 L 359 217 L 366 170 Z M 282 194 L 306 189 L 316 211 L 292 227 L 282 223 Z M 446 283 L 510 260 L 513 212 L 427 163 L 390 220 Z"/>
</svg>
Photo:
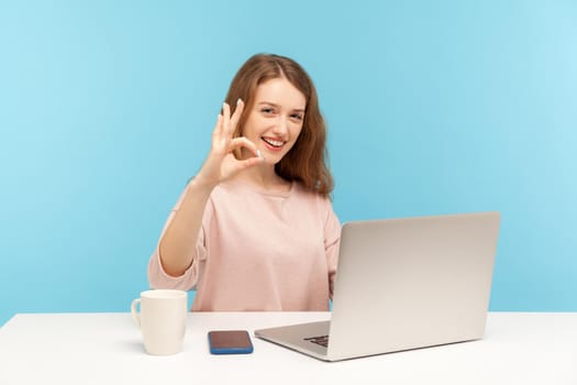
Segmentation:
<svg viewBox="0 0 577 385">
<path fill-rule="evenodd" d="M 136 307 L 141 304 L 140 314 Z M 187 293 L 147 290 L 132 301 L 132 317 L 142 331 L 148 354 L 168 355 L 182 350 L 187 322 Z"/>
</svg>

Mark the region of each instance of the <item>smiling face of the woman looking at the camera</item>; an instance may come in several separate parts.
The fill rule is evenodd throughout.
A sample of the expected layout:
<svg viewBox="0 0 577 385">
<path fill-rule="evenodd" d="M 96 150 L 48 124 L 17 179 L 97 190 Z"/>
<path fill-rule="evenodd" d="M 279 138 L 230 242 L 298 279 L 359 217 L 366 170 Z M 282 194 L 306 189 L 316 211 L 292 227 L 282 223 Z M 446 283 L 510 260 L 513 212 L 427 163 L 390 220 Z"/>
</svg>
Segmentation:
<svg viewBox="0 0 577 385">
<path fill-rule="evenodd" d="M 304 95 L 285 78 L 257 87 L 242 135 L 260 151 L 265 163 L 276 164 L 292 148 L 304 120 Z"/>
</svg>

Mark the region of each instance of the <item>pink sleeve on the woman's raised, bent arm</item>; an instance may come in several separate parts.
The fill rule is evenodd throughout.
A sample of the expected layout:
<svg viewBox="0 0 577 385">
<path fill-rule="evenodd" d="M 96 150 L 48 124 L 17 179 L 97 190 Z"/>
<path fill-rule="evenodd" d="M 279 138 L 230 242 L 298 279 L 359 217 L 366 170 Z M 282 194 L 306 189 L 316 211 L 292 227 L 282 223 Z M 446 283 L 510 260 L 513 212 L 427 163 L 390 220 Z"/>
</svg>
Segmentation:
<svg viewBox="0 0 577 385">
<path fill-rule="evenodd" d="M 204 210 L 204 215 L 202 218 L 202 224 L 199 231 L 199 237 L 197 239 L 197 244 L 195 246 L 195 255 L 192 256 L 192 264 L 187 268 L 187 271 L 178 277 L 174 277 L 165 272 L 163 267 L 163 263 L 160 260 L 160 240 L 163 239 L 166 229 L 175 218 L 175 215 L 180 209 L 180 205 L 182 200 L 185 199 L 186 189 L 180 195 L 180 198 L 178 199 L 177 204 L 170 211 L 170 215 L 168 216 L 168 219 L 165 222 L 165 226 L 163 228 L 160 238 L 158 239 L 158 242 L 156 244 L 155 250 L 153 251 L 153 254 L 151 255 L 151 260 L 148 261 L 148 283 L 151 285 L 151 288 L 154 289 L 179 289 L 179 290 L 191 290 L 196 287 L 199 274 L 200 274 L 200 266 L 206 262 L 207 260 L 207 246 L 206 246 L 206 223 L 210 219 L 211 210 L 210 207 L 212 206 L 209 199 L 209 202 L 207 204 L 207 209 Z M 191 240 L 193 242 L 193 240 Z"/>
</svg>

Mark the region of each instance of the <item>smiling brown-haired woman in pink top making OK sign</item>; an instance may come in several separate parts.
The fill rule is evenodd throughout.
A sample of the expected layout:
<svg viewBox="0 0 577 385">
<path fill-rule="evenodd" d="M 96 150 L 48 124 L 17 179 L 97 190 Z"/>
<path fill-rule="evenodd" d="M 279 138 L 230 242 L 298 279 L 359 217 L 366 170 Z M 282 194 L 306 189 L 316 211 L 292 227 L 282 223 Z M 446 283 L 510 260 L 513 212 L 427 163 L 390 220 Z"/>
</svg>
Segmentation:
<svg viewBox="0 0 577 385">
<path fill-rule="evenodd" d="M 251 57 L 231 84 L 204 164 L 166 221 L 151 286 L 196 287 L 200 311 L 328 310 L 341 226 L 325 142 L 302 67 Z"/>
</svg>

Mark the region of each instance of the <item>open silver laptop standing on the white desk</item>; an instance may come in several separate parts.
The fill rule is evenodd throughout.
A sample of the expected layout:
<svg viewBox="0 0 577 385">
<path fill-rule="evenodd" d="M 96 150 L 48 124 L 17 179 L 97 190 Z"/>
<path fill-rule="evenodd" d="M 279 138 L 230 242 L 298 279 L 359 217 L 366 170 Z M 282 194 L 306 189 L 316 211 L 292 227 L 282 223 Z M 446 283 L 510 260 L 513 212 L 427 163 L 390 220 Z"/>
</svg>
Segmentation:
<svg viewBox="0 0 577 385">
<path fill-rule="evenodd" d="M 484 337 L 499 212 L 346 222 L 330 321 L 255 330 L 340 361 Z"/>
</svg>

